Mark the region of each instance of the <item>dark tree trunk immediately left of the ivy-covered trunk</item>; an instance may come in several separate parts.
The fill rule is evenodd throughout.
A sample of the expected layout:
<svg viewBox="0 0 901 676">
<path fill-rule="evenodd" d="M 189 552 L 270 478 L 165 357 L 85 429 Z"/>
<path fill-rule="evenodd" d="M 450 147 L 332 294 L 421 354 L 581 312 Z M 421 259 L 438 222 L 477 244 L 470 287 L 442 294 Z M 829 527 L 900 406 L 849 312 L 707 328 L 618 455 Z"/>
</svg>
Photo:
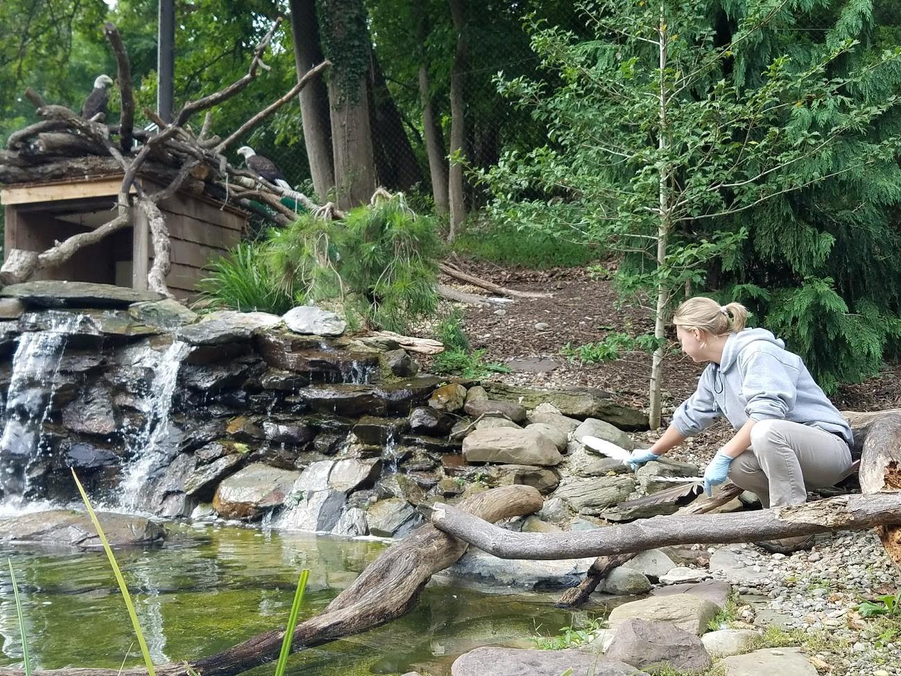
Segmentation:
<svg viewBox="0 0 901 676">
<path fill-rule="evenodd" d="M 291 34 L 294 37 L 294 61 L 299 81 L 309 69 L 323 61 L 314 0 L 291 0 Z M 316 196 L 324 202 L 335 185 L 329 96 L 319 78 L 302 89 L 299 96 L 313 187 Z"/>
</svg>

